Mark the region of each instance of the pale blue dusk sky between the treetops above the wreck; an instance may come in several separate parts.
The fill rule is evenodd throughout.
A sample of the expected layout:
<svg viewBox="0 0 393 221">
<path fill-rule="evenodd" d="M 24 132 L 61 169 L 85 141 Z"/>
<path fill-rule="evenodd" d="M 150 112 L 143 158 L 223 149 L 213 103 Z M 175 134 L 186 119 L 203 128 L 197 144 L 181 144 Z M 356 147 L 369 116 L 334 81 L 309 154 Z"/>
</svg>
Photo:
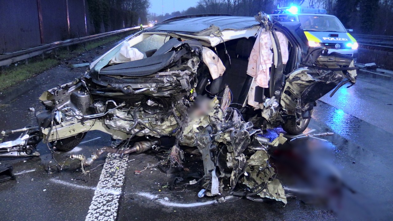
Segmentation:
<svg viewBox="0 0 393 221">
<path fill-rule="evenodd" d="M 163 5 L 162 2 L 164 2 Z M 183 11 L 189 7 L 196 6 L 197 2 L 198 0 L 150 0 L 149 12 L 161 15 L 163 10 L 164 15 L 165 13 L 171 14 L 173 11 Z"/>
</svg>

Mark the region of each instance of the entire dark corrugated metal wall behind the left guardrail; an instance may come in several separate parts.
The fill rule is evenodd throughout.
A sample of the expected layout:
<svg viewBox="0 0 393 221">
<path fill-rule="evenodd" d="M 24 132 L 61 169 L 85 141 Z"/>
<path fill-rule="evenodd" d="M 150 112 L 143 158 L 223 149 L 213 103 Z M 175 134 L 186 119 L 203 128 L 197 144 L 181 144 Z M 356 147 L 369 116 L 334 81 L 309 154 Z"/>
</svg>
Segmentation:
<svg viewBox="0 0 393 221">
<path fill-rule="evenodd" d="M 123 21 L 130 27 L 127 13 L 108 10 L 109 27 L 97 32 L 123 29 Z M 94 32 L 87 0 L 0 0 L 0 55 Z"/>
</svg>

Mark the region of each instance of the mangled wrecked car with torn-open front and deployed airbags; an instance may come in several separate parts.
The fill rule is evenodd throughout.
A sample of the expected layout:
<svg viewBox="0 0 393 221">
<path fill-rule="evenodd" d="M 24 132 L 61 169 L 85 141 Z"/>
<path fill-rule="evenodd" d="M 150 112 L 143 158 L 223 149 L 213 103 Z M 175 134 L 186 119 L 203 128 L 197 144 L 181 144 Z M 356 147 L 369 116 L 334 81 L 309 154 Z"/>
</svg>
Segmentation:
<svg viewBox="0 0 393 221">
<path fill-rule="evenodd" d="M 0 151 L 36 156 L 42 141 L 71 151 L 99 130 L 122 142 L 102 153 L 142 153 L 168 147 L 165 164 L 182 167 L 183 147 L 202 155 L 204 195 L 233 194 L 286 203 L 267 150 L 285 142 L 264 138 L 279 127 L 302 133 L 315 101 L 356 81 L 351 57 L 309 48 L 294 22 L 193 15 L 139 31 L 90 64 L 73 82 L 44 92 L 37 126 L 0 144 Z M 230 188 L 228 188 L 228 186 Z"/>
</svg>

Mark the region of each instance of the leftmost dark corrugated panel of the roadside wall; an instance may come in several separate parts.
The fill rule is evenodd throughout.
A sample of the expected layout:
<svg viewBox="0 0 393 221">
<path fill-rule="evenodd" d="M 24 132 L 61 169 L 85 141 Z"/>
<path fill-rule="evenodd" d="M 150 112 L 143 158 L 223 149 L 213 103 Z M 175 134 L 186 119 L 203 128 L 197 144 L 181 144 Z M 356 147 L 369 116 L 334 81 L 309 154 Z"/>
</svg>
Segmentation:
<svg viewBox="0 0 393 221">
<path fill-rule="evenodd" d="M 37 0 L 0 1 L 0 54 L 40 44 Z"/>
</svg>

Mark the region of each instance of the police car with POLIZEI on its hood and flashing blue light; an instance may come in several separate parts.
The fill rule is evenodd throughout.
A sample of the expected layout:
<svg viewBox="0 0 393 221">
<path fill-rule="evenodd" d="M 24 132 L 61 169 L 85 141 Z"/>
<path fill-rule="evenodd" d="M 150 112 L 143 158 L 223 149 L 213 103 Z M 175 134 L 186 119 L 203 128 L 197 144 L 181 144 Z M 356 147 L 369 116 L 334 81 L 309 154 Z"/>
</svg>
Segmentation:
<svg viewBox="0 0 393 221">
<path fill-rule="evenodd" d="M 270 17 L 279 21 L 300 22 L 310 47 L 325 47 L 352 57 L 358 53 L 358 43 L 347 32 L 334 15 L 327 15 L 325 9 L 299 8 L 297 6 L 279 8 Z"/>
</svg>

